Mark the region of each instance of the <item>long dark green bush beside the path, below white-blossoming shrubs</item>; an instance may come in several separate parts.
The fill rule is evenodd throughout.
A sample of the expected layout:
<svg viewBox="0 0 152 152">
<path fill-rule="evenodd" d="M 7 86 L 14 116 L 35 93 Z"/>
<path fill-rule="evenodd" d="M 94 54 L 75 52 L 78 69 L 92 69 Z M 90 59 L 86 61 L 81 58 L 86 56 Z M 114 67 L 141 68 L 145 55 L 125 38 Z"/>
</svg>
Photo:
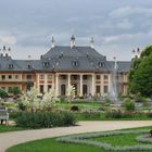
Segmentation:
<svg viewBox="0 0 152 152">
<path fill-rule="evenodd" d="M 51 128 L 75 125 L 71 113 L 22 113 L 16 117 L 16 125 L 26 128 Z"/>
</svg>

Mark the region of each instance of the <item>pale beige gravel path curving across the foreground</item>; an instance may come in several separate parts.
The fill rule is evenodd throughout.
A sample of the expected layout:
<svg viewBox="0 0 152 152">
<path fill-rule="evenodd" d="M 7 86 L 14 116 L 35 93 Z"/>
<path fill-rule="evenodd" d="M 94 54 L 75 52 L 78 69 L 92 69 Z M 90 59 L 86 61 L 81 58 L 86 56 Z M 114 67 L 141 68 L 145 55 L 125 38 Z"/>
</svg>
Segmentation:
<svg viewBox="0 0 152 152">
<path fill-rule="evenodd" d="M 78 125 L 79 126 L 74 127 L 2 132 L 0 134 L 0 152 L 4 152 L 8 148 L 12 145 L 31 140 L 52 138 L 72 134 L 106 131 L 123 128 L 151 126 L 152 121 L 79 122 Z"/>
</svg>

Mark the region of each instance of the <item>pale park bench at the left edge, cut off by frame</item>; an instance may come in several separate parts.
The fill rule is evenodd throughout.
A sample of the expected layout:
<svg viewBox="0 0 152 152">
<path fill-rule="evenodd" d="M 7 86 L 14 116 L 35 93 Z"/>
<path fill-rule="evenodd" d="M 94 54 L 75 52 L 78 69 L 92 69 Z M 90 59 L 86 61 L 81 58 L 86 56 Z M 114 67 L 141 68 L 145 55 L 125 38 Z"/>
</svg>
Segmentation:
<svg viewBox="0 0 152 152">
<path fill-rule="evenodd" d="M 8 113 L 8 109 L 1 106 L 0 107 L 0 122 L 1 122 L 1 125 L 3 124 L 3 121 L 5 121 L 5 125 L 9 125 L 9 113 Z"/>
</svg>

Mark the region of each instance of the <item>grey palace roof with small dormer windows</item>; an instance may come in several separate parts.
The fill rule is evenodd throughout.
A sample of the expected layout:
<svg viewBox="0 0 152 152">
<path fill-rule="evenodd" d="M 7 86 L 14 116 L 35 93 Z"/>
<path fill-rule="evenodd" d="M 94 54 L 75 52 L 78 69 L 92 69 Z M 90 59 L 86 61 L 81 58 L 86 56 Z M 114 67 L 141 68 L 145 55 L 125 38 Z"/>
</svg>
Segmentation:
<svg viewBox="0 0 152 152">
<path fill-rule="evenodd" d="M 76 62 L 76 66 L 73 63 Z M 13 68 L 9 65 L 13 64 Z M 47 66 L 43 66 L 46 65 Z M 128 72 L 130 62 L 117 62 L 118 72 Z M 92 71 L 110 72 L 114 62 L 106 61 L 105 56 L 90 47 L 56 46 L 50 49 L 40 60 L 12 60 L 10 56 L 0 56 L 0 71 Z"/>
</svg>

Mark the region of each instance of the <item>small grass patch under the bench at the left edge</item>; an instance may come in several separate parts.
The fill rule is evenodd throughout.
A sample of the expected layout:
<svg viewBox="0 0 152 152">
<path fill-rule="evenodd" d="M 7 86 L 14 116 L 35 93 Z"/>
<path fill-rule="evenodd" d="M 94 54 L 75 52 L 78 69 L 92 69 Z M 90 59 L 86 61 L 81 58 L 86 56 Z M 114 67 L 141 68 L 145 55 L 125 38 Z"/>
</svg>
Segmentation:
<svg viewBox="0 0 152 152">
<path fill-rule="evenodd" d="M 23 130 L 23 128 L 16 126 L 0 125 L 0 132 L 17 131 L 17 130 Z"/>
</svg>

